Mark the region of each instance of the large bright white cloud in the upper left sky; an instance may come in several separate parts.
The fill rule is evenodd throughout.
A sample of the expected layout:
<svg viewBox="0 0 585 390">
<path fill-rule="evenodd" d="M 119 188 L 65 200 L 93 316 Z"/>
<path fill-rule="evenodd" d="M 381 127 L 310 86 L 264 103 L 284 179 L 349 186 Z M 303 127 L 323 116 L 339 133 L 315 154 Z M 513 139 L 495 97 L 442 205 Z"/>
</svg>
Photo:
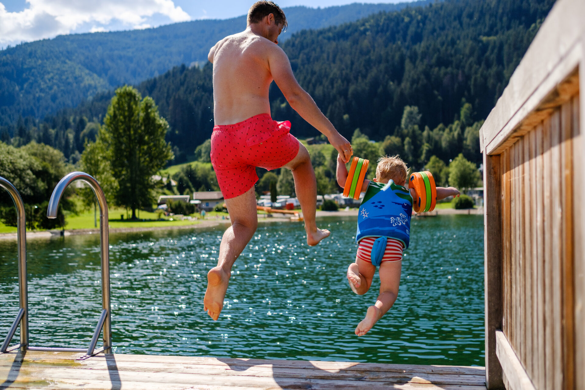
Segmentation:
<svg viewBox="0 0 585 390">
<path fill-rule="evenodd" d="M 7 12 L 0 2 L 0 47 L 8 44 L 51 38 L 73 32 L 85 23 L 91 32 L 106 31 L 111 22 L 128 28 L 151 27 L 154 15 L 169 22 L 191 20 L 173 0 L 26 0 L 29 8 Z M 149 23 L 150 22 L 150 23 Z M 99 26 L 101 25 L 101 26 Z"/>
</svg>

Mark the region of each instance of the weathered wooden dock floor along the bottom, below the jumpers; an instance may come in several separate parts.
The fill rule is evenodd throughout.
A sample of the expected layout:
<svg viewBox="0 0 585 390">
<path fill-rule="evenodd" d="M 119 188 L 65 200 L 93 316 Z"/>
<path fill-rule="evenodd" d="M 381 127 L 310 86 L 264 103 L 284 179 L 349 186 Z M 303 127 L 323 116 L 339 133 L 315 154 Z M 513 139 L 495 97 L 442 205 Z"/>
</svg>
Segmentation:
<svg viewBox="0 0 585 390">
<path fill-rule="evenodd" d="M 483 367 L 12 351 L 0 389 L 484 390 Z"/>
</svg>

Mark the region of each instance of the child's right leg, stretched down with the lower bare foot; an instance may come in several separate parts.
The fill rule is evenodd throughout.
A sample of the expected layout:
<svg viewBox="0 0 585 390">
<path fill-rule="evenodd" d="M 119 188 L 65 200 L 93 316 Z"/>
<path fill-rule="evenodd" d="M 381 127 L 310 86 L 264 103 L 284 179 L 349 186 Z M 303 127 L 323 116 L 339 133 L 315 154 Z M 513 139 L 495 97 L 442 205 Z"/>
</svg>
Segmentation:
<svg viewBox="0 0 585 390">
<path fill-rule="evenodd" d="M 380 264 L 380 295 L 376 300 L 376 305 L 367 309 L 366 318 L 356 327 L 357 336 L 363 336 L 374 326 L 374 324 L 384 315 L 398 296 L 398 287 L 400 286 L 400 272 L 402 261 L 384 261 Z"/>
</svg>

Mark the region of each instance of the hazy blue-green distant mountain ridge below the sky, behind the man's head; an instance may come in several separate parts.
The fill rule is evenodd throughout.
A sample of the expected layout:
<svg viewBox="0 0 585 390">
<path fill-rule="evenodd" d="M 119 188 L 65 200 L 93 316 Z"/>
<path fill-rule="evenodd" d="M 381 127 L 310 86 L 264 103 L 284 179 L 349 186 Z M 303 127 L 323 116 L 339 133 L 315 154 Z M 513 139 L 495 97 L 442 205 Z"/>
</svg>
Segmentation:
<svg viewBox="0 0 585 390">
<path fill-rule="evenodd" d="M 302 29 L 339 25 L 407 5 L 411 4 L 285 8 L 290 27 L 282 39 Z M 146 30 L 71 34 L 9 47 L 0 51 L 0 125 L 13 124 L 19 116 L 41 119 L 96 92 L 136 84 L 176 65 L 207 61 L 211 46 L 245 27 L 246 16 L 240 16 Z"/>
</svg>

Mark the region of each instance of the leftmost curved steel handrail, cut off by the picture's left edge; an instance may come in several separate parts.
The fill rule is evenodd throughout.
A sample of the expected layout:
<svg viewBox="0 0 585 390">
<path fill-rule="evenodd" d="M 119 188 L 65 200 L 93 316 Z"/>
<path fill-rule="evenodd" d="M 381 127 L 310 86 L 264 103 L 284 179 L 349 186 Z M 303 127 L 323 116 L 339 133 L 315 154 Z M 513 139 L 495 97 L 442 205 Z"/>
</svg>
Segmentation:
<svg viewBox="0 0 585 390">
<path fill-rule="evenodd" d="M 0 177 L 0 187 L 4 188 L 10 194 L 14 205 L 16 206 L 16 242 L 18 246 L 18 294 L 20 300 L 20 309 L 16 319 L 12 323 L 8 336 L 0 347 L 0 353 L 6 352 L 12 337 L 18 329 L 20 323 L 20 348 L 26 349 L 29 344 L 29 309 L 26 285 L 26 216 L 25 203 L 22 202 L 20 194 L 11 182 L 4 177 Z M 16 346 L 18 348 L 19 346 Z"/>
</svg>

